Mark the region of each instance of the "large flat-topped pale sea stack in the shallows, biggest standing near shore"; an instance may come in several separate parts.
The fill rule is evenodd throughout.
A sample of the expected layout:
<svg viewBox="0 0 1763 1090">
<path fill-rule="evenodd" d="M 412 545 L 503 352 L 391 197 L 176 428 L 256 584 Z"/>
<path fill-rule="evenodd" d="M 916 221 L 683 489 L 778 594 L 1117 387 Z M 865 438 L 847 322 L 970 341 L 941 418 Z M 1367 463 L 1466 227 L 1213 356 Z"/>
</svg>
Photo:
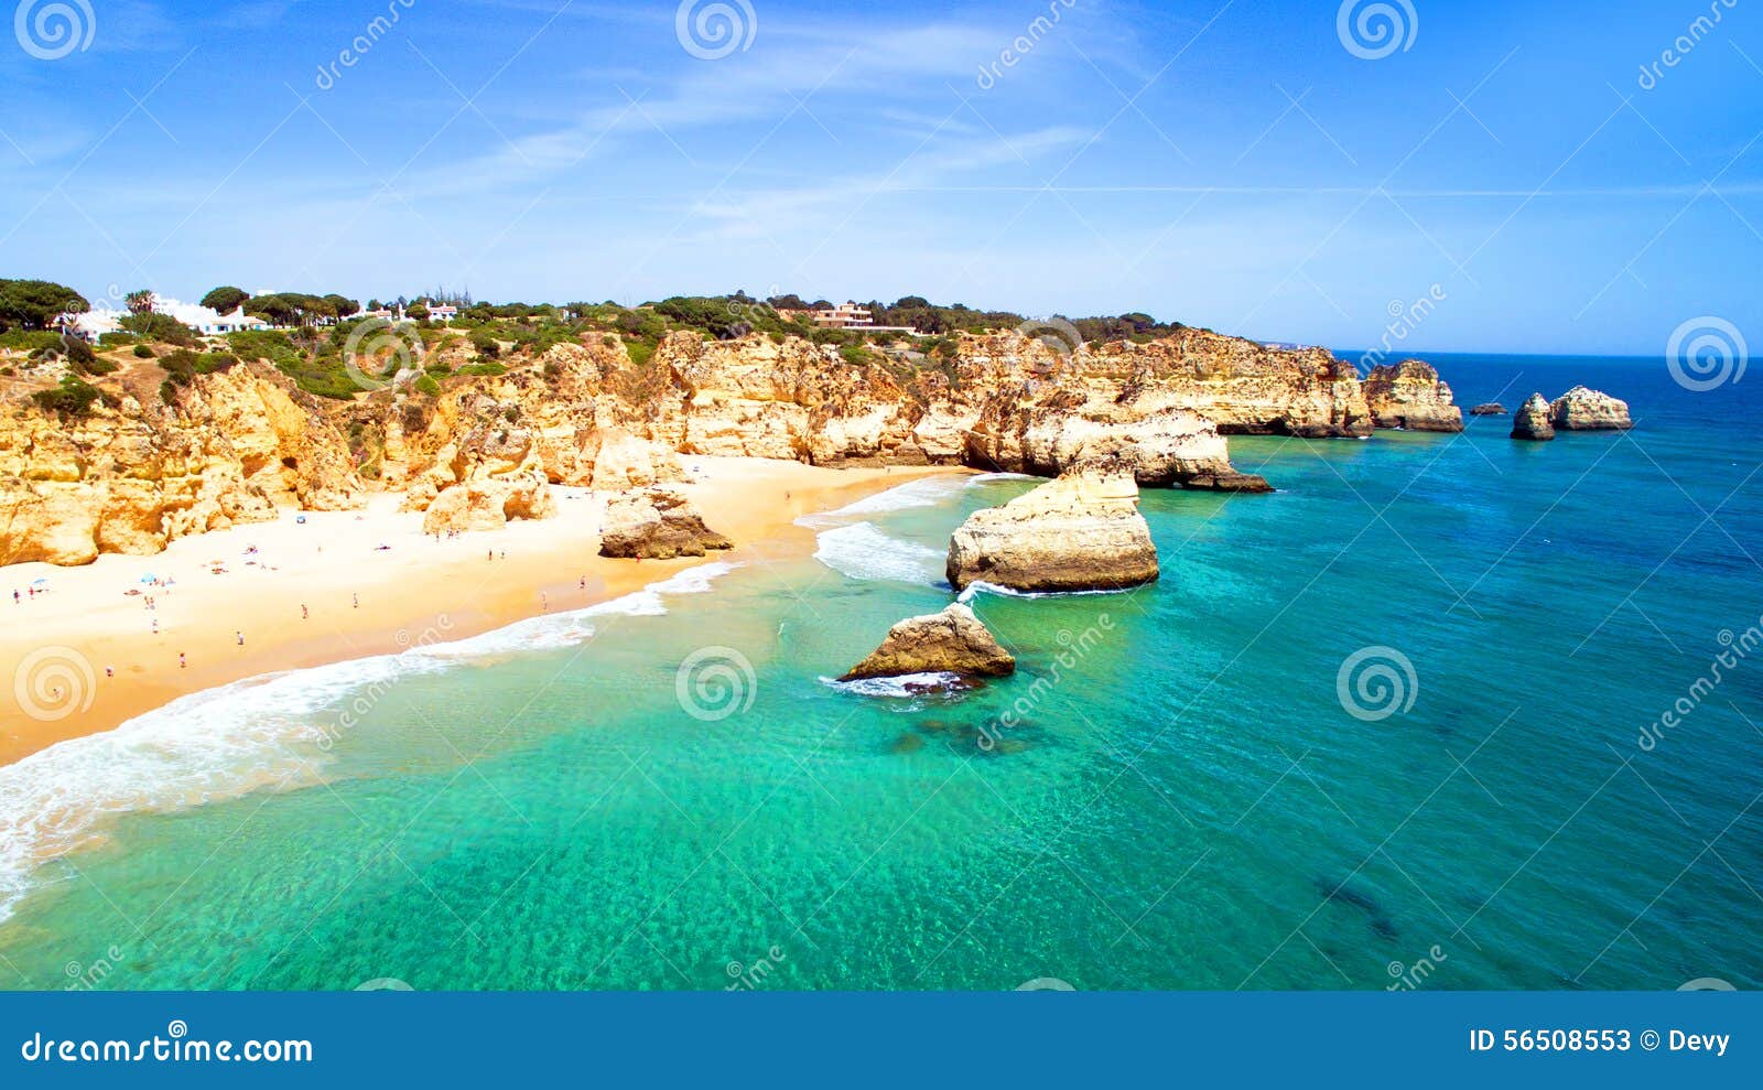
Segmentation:
<svg viewBox="0 0 1763 1090">
<path fill-rule="evenodd" d="M 948 541 L 948 582 L 1014 591 L 1118 591 L 1157 579 L 1139 485 L 1118 464 L 1074 469 L 1001 508 L 973 511 Z"/>
</svg>

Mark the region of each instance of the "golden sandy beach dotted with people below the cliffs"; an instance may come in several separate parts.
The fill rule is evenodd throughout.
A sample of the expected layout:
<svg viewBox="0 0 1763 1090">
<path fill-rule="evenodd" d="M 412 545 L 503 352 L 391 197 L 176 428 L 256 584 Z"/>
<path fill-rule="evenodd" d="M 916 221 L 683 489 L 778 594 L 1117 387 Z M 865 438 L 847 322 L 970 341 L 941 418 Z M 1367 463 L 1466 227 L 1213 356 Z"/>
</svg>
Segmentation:
<svg viewBox="0 0 1763 1090">
<path fill-rule="evenodd" d="M 712 559 L 737 563 L 804 556 L 815 538 L 793 524 L 802 515 L 919 476 L 966 473 L 823 469 L 742 457 L 686 455 L 681 462 L 693 478 L 684 490 L 705 522 L 735 541 L 733 552 Z M 111 730 L 183 693 L 465 638 L 541 612 L 610 601 L 705 563 L 601 557 L 605 496 L 555 485 L 554 496 L 554 519 L 441 541 L 421 533 L 421 513 L 397 510 L 402 496 L 384 494 L 365 511 L 286 510 L 275 522 L 180 538 L 155 556 L 106 554 L 85 568 L 0 568 L 0 608 L 11 614 L 0 661 L 12 663 L 11 677 L 0 679 L 11 683 L 0 690 L 0 764 Z M 143 582 L 148 577 L 171 586 Z M 46 589 L 32 596 L 39 579 Z M 56 679 L 55 667 L 67 663 L 71 672 Z M 90 704 L 76 695 L 86 668 Z"/>
</svg>

